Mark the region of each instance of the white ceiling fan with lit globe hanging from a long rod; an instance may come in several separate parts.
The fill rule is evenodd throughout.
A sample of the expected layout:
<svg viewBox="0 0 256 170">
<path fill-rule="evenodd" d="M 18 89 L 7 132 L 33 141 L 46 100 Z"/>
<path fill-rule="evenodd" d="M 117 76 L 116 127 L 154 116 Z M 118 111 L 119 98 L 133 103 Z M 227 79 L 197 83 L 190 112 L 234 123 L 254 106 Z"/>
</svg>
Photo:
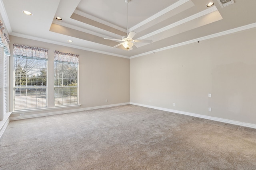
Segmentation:
<svg viewBox="0 0 256 170">
<path fill-rule="evenodd" d="M 134 37 L 134 35 L 136 34 L 136 32 L 130 31 L 130 33 L 128 34 L 128 3 L 130 2 L 130 0 L 125 0 L 125 3 L 127 4 L 127 27 L 126 27 L 126 33 L 127 35 L 122 37 L 122 39 L 112 39 L 112 38 L 104 38 L 104 39 L 109 39 L 109 40 L 114 40 L 114 41 L 123 41 L 123 43 L 120 43 L 118 45 L 115 45 L 114 47 L 111 48 L 115 48 L 118 47 L 120 45 L 123 45 L 124 48 L 126 48 L 127 50 L 132 50 L 132 49 L 136 49 L 137 47 L 133 44 L 133 43 L 152 43 L 152 40 L 149 39 L 132 39 Z"/>
</svg>

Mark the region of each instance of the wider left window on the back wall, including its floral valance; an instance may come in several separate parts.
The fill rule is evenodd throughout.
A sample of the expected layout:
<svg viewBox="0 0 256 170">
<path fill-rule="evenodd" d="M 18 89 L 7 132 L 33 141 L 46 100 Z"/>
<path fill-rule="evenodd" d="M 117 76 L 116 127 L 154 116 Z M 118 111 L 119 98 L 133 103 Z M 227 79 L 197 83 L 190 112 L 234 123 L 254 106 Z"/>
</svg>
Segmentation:
<svg viewBox="0 0 256 170">
<path fill-rule="evenodd" d="M 14 110 L 47 107 L 48 49 L 14 44 Z"/>
</svg>

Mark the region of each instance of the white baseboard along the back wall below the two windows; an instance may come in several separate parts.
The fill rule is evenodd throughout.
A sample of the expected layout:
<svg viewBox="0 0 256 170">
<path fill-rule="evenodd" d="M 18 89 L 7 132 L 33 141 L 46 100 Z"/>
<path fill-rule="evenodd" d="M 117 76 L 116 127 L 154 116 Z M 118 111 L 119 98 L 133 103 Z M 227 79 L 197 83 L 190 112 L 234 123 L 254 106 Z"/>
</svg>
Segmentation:
<svg viewBox="0 0 256 170">
<path fill-rule="evenodd" d="M 10 117 L 10 121 L 20 120 L 20 119 L 29 119 L 29 118 L 35 118 L 35 117 L 42 117 L 42 116 L 49 116 L 49 115 L 59 115 L 59 114 L 64 114 L 64 113 L 72 113 L 72 112 L 76 112 L 76 111 L 101 109 L 101 108 L 113 107 L 113 106 L 122 106 L 122 105 L 127 105 L 127 104 L 130 104 L 130 102 L 120 103 L 120 104 L 110 104 L 110 105 L 104 105 L 104 106 L 86 107 L 86 108 L 79 108 L 79 109 L 70 109 L 70 110 L 64 110 L 64 111 L 54 111 L 54 112 L 39 113 L 39 114 L 24 115 L 24 116 L 15 116 L 15 117 Z"/>
</svg>

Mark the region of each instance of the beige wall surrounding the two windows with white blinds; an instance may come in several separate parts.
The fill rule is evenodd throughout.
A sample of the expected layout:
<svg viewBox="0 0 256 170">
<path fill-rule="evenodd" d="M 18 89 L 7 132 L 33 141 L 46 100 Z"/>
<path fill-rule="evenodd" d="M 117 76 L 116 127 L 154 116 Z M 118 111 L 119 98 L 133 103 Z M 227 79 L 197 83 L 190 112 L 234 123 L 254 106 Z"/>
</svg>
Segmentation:
<svg viewBox="0 0 256 170">
<path fill-rule="evenodd" d="M 61 45 L 44 43 L 20 37 L 10 36 L 10 51 L 13 44 L 29 45 L 48 49 L 48 107 L 54 107 L 54 51 L 74 53 L 79 55 L 79 98 L 81 106 L 78 109 L 121 104 L 130 102 L 130 60 L 110 55 L 93 53 Z M 10 57 L 13 63 L 13 57 Z M 10 70 L 13 70 L 12 64 Z M 10 77 L 13 73 L 10 72 Z M 10 78 L 11 79 L 11 78 Z M 13 80 L 10 80 L 10 86 Z M 13 89 L 10 89 L 10 111 L 12 111 Z M 108 102 L 105 102 L 105 100 Z M 76 109 L 76 108 L 69 108 Z M 50 113 L 64 109 L 48 109 L 34 111 L 26 115 Z M 65 109 L 66 110 L 66 109 Z M 12 114 L 11 117 L 19 114 Z"/>
</svg>

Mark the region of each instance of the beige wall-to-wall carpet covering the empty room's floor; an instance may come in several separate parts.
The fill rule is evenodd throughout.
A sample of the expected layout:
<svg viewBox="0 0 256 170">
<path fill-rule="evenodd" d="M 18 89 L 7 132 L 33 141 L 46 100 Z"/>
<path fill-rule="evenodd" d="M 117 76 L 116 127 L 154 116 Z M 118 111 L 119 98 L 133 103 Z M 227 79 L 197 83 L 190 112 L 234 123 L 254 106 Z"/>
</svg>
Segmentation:
<svg viewBox="0 0 256 170">
<path fill-rule="evenodd" d="M 256 169 L 256 129 L 134 105 L 11 121 L 1 170 Z"/>
</svg>

